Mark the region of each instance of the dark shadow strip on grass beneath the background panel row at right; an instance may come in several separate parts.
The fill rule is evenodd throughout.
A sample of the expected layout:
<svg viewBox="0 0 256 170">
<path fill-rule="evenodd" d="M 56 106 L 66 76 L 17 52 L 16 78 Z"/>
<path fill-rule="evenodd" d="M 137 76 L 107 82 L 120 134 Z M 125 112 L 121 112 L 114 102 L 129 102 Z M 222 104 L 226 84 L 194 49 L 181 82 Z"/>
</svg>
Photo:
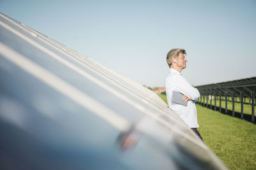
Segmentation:
<svg viewBox="0 0 256 170">
<path fill-rule="evenodd" d="M 209 108 L 211 110 L 215 110 L 215 108 L 214 108 L 215 106 L 212 105 L 212 108 L 211 108 L 210 104 L 208 104 L 208 107 L 206 106 L 206 104 L 205 104 L 205 106 L 203 104 L 200 104 L 200 103 L 196 103 L 196 104 L 198 104 L 200 106 L 203 106 L 205 108 Z M 216 111 L 219 111 L 220 113 L 222 113 L 224 115 L 229 115 L 230 117 L 232 117 L 232 110 L 227 110 L 227 113 L 226 113 L 225 112 L 225 108 L 221 108 L 221 111 L 220 111 L 220 107 L 216 106 Z M 235 111 L 234 117 L 241 118 L 241 113 Z M 246 120 L 246 121 L 248 121 L 248 122 L 250 122 L 252 124 L 256 124 L 255 116 L 254 116 L 254 122 L 252 122 L 252 115 L 248 115 L 248 114 L 245 114 L 245 113 L 243 114 L 243 118 L 242 119 L 244 119 L 244 120 Z"/>
</svg>

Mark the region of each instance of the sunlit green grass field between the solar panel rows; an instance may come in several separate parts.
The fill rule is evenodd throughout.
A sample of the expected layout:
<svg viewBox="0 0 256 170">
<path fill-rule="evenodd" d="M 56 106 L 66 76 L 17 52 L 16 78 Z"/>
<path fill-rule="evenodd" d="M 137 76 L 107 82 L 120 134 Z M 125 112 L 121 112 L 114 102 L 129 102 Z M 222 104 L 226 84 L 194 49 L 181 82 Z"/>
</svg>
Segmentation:
<svg viewBox="0 0 256 170">
<path fill-rule="evenodd" d="M 159 96 L 166 102 L 165 95 Z M 196 108 L 198 131 L 224 164 L 229 169 L 256 169 L 256 125 L 198 104 Z"/>
</svg>

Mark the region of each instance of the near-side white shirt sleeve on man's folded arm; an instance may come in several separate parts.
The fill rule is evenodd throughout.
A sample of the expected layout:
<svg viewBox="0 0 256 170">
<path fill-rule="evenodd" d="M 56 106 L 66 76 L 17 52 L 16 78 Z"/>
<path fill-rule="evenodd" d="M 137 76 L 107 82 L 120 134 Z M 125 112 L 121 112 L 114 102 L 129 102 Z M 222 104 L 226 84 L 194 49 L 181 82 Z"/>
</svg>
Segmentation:
<svg viewBox="0 0 256 170">
<path fill-rule="evenodd" d="M 200 97 L 199 91 L 191 86 L 189 82 L 182 76 L 177 76 L 177 81 L 173 81 L 173 86 L 177 87 L 180 92 L 188 96 L 192 100 L 196 100 Z"/>
</svg>

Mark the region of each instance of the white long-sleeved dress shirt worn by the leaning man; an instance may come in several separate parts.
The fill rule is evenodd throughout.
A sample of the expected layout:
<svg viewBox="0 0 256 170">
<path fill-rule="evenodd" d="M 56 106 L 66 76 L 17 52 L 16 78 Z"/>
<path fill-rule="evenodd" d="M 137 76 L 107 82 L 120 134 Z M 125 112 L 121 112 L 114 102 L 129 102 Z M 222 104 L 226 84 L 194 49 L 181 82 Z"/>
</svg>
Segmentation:
<svg viewBox="0 0 256 170">
<path fill-rule="evenodd" d="M 169 108 L 175 111 L 175 113 L 182 118 L 188 127 L 199 127 L 197 123 L 196 106 L 193 101 L 188 101 L 188 106 L 172 104 L 171 101 L 172 91 L 181 92 L 190 99 L 196 100 L 200 97 L 198 90 L 191 86 L 189 82 L 179 73 L 179 71 L 176 71 L 175 69 L 170 69 L 170 74 L 165 81 L 165 90 Z"/>
</svg>

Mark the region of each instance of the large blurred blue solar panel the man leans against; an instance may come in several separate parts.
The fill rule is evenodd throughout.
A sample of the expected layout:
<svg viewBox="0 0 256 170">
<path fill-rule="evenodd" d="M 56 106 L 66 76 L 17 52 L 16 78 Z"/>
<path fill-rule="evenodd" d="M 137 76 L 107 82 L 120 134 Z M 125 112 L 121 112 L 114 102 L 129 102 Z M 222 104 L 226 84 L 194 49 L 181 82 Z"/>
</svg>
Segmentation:
<svg viewBox="0 0 256 170">
<path fill-rule="evenodd" d="M 0 13 L 1 169 L 227 169 L 151 90 Z"/>
</svg>

